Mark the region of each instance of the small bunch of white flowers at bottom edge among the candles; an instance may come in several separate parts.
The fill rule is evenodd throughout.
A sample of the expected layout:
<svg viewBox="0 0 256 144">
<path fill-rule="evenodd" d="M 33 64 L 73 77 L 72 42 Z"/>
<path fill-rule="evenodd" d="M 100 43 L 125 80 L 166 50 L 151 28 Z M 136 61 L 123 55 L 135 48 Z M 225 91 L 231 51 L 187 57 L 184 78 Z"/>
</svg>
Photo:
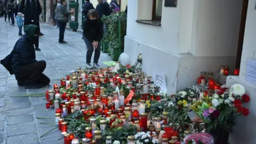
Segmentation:
<svg viewBox="0 0 256 144">
<path fill-rule="evenodd" d="M 136 144 L 158 143 L 158 139 L 152 138 L 150 132 L 138 132 L 134 137 Z"/>
</svg>

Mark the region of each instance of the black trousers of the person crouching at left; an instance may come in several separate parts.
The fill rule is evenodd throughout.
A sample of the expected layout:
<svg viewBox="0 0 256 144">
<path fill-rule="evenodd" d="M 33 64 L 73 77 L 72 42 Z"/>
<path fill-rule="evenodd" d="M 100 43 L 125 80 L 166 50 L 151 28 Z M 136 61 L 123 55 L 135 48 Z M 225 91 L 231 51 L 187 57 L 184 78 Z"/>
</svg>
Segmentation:
<svg viewBox="0 0 256 144">
<path fill-rule="evenodd" d="M 45 67 L 46 62 L 44 60 L 29 63 L 20 68 L 20 72 L 15 75 L 15 78 L 19 82 L 25 82 L 25 85 L 48 85 L 50 83 L 50 78 L 43 74 Z"/>
</svg>

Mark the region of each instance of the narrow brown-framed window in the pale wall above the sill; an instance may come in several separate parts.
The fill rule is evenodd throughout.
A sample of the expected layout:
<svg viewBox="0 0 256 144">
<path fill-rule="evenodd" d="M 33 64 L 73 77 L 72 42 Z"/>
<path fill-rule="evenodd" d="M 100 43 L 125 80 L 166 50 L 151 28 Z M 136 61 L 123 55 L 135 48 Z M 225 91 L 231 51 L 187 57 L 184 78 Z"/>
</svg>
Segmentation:
<svg viewBox="0 0 256 144">
<path fill-rule="evenodd" d="M 163 0 L 153 0 L 152 20 L 161 21 Z"/>
</svg>

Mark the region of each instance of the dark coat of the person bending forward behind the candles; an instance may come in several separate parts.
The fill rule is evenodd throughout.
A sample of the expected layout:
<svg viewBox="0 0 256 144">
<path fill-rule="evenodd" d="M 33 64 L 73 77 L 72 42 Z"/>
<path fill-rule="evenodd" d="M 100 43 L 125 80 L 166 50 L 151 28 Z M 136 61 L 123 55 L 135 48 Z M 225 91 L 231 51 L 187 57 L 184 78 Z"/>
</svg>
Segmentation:
<svg viewBox="0 0 256 144">
<path fill-rule="evenodd" d="M 90 41 L 100 42 L 103 37 L 103 22 L 98 20 L 92 22 L 89 18 L 84 20 L 83 35 Z"/>
</svg>

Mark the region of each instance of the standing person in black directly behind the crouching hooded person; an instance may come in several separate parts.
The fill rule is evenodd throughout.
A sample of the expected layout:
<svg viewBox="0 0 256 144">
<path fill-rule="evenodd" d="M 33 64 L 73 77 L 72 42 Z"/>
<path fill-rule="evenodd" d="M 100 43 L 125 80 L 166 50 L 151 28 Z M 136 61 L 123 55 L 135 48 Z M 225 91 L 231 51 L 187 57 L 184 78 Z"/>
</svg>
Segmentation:
<svg viewBox="0 0 256 144">
<path fill-rule="evenodd" d="M 31 24 L 39 27 L 39 15 L 42 13 L 39 0 L 22 0 L 20 3 L 19 12 L 25 15 L 24 26 Z M 34 39 L 34 44 L 35 50 L 41 51 L 41 49 L 39 49 L 39 37 Z"/>
</svg>

